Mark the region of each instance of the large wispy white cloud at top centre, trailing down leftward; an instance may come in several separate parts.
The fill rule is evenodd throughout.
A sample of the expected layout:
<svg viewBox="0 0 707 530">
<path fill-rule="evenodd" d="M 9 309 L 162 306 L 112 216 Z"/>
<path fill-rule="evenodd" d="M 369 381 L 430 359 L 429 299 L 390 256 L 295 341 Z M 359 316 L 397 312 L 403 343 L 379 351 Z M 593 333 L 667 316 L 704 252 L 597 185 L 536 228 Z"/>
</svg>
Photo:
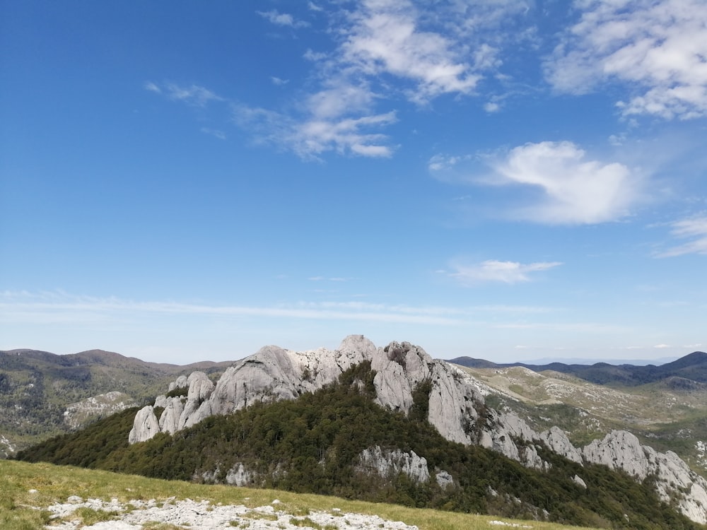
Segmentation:
<svg viewBox="0 0 707 530">
<path fill-rule="evenodd" d="M 322 13 L 317 4 L 308 6 Z M 503 45 L 513 40 L 498 28 L 527 10 L 522 0 L 474 6 L 364 0 L 339 7 L 326 13 L 333 48 L 303 56 L 312 67 L 312 90 L 299 92 L 286 111 L 236 106 L 236 121 L 255 130 L 257 141 L 310 160 L 327 152 L 388 157 L 396 146 L 382 131 L 397 121 L 399 101 L 426 105 L 441 95 L 474 95 L 479 80 L 501 66 Z M 271 23 L 298 25 L 286 13 L 258 13 Z M 489 112 L 498 110 L 494 105 Z M 371 132 L 372 126 L 378 131 Z"/>
</svg>

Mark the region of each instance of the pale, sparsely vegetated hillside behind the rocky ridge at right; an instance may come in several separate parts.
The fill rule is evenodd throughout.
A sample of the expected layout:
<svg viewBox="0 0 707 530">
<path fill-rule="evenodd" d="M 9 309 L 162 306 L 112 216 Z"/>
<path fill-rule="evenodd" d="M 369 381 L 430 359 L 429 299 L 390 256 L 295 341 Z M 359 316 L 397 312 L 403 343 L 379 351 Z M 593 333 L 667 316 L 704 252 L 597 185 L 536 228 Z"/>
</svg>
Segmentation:
<svg viewBox="0 0 707 530">
<path fill-rule="evenodd" d="M 609 387 L 554 370 L 462 368 L 492 389 L 489 403 L 515 411 L 536 430 L 558 425 L 580 445 L 612 429 L 630 430 L 645 444 L 676 452 L 707 476 L 707 384 L 669 376 Z"/>
</svg>

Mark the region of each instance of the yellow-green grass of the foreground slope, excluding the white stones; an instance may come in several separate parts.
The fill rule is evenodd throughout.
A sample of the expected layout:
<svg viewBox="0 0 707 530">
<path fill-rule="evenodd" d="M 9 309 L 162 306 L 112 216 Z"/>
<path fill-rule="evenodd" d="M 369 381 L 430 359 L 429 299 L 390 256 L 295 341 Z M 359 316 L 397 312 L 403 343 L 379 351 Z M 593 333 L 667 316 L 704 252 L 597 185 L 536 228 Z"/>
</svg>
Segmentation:
<svg viewBox="0 0 707 530">
<path fill-rule="evenodd" d="M 36 490 L 36 493 L 30 491 Z M 121 502 L 128 500 L 155 499 L 165 502 L 171 497 L 177 500 L 209 500 L 213 504 L 245 505 L 255 508 L 280 501 L 277 510 L 288 514 L 308 514 L 310 512 L 341 512 L 375 514 L 383 519 L 414 524 L 420 530 L 489 530 L 504 528 L 492 526 L 492 520 L 513 522 L 510 519 L 484 515 L 420 510 L 398 505 L 375 504 L 372 502 L 342 500 L 322 495 L 303 495 L 275 490 L 254 490 L 224 485 L 202 485 L 180 481 L 160 481 L 141 476 L 121 475 L 107 471 L 78 469 L 52 464 L 28 464 L 18 461 L 0 461 L 0 528 L 3 530 L 35 530 L 48 522 L 48 512 L 41 510 L 55 502 L 66 502 L 71 495 Z M 37 510 L 40 508 L 40 510 Z M 80 513 L 86 524 L 93 524 L 108 512 L 86 509 Z M 301 515 L 299 516 L 301 517 Z M 305 521 L 307 518 L 300 519 Z M 530 525 L 533 530 L 579 529 L 577 526 L 552 524 L 535 521 L 516 522 Z M 307 525 L 310 526 L 310 525 Z M 145 525 L 150 530 L 173 530 L 173 525 Z"/>
</svg>

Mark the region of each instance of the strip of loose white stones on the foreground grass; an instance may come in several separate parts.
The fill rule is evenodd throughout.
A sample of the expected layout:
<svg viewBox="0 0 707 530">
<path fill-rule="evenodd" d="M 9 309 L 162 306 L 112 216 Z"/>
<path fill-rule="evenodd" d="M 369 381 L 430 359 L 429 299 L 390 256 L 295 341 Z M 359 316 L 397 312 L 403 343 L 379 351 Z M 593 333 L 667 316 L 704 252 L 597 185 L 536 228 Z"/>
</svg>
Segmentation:
<svg viewBox="0 0 707 530">
<path fill-rule="evenodd" d="M 329 512 L 310 512 L 306 516 L 294 516 L 277 510 L 279 501 L 272 505 L 247 508 L 242 505 L 212 505 L 204 500 L 174 500 L 165 502 L 155 500 L 130 500 L 122 503 L 116 499 L 106 502 L 99 499 L 82 499 L 69 497 L 65 504 L 49 506 L 53 518 L 62 519 L 60 524 L 50 524 L 45 528 L 51 530 L 75 530 L 81 526 L 81 520 L 76 516 L 78 508 L 86 507 L 93 510 L 116 512 L 114 520 L 98 522 L 91 526 L 81 526 L 82 530 L 142 530 L 148 522 L 173 524 L 185 529 L 216 530 L 417 530 L 417 526 L 409 526 L 402 522 L 386 521 L 377 515 L 362 515 L 344 513 L 336 508 Z M 309 521 L 303 520 L 309 519 Z M 313 524 L 312 524 L 313 523 Z"/>
</svg>

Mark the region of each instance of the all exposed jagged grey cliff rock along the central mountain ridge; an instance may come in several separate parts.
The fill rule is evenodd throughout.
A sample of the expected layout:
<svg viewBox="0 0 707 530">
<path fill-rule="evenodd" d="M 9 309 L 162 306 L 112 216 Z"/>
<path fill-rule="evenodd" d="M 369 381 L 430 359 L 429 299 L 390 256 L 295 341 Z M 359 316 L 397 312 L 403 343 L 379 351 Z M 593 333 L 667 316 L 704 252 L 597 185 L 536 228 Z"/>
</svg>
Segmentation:
<svg viewBox="0 0 707 530">
<path fill-rule="evenodd" d="M 707 523 L 707 481 L 690 471 L 676 454 L 641 446 L 625 431 L 612 432 L 604 440 L 578 449 L 559 428 L 538 433 L 515 413 L 486 407 L 484 394 L 489 389 L 484 384 L 443 360 L 433 360 L 419 346 L 392 342 L 377 348 L 360 335 L 346 337 L 333 351 L 320 348 L 295 352 L 266 346 L 229 367 L 215 385 L 202 372 L 180 377 L 170 385 L 170 396 L 158 396 L 153 406 L 137 413 L 129 442 L 149 440 L 158 432 L 176 432 L 257 401 L 296 399 L 336 381 L 342 372 L 363 361 L 370 362 L 375 371 L 375 400 L 380 406 L 408 413 L 414 392 L 424 387 L 428 391 L 427 419 L 447 440 L 480 444 L 539 470 L 551 466 L 538 451 L 546 446 L 579 464 L 604 464 L 639 481 L 650 477 L 663 500 L 674 501 L 690 519 Z M 161 409 L 159 417 L 156 408 Z M 360 461 L 361 466 L 379 474 L 390 470 L 411 473 L 414 469 L 416 477 L 430 476 L 426 464 L 421 464 L 423 455 L 390 454 L 371 448 L 361 454 Z M 248 472 L 231 471 L 243 476 Z M 437 473 L 439 476 L 439 470 Z M 233 483 L 239 482 L 234 478 Z M 575 482 L 582 484 L 583 479 L 576 476 Z"/>
</svg>

